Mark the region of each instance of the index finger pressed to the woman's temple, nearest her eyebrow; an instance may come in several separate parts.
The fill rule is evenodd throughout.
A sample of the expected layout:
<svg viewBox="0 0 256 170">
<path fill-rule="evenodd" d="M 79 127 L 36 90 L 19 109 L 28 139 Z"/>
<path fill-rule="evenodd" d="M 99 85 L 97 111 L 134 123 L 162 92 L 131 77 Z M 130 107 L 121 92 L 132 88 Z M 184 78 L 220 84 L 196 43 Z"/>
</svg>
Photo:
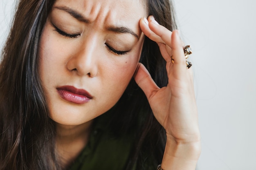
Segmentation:
<svg viewBox="0 0 256 170">
<path fill-rule="evenodd" d="M 141 31 L 143 31 L 143 33 L 148 38 L 150 38 L 150 40 L 153 40 L 158 43 L 164 43 L 164 41 L 162 40 L 161 37 L 159 37 L 159 35 L 155 34 L 153 31 L 150 30 L 148 26 L 148 20 L 146 18 L 141 18 L 141 20 L 139 21 L 139 26 L 141 28 Z"/>
</svg>

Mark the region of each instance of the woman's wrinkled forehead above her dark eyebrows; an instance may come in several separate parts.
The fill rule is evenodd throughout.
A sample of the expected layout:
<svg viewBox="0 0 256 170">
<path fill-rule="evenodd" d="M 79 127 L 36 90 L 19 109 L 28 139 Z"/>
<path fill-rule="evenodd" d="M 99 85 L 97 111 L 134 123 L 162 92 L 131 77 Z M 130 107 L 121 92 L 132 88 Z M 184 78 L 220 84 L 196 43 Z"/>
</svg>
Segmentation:
<svg viewBox="0 0 256 170">
<path fill-rule="evenodd" d="M 132 24 L 146 16 L 146 8 L 141 0 L 56 0 L 54 6 L 72 8 L 90 22 Z"/>
</svg>

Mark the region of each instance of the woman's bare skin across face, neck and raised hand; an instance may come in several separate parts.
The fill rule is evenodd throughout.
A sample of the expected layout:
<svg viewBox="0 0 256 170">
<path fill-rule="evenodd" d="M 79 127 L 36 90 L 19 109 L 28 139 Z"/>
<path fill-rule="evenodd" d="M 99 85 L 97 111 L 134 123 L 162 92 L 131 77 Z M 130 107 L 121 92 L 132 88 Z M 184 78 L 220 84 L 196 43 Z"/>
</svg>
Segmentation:
<svg viewBox="0 0 256 170">
<path fill-rule="evenodd" d="M 60 7 L 71 8 L 86 20 L 78 20 Z M 200 133 L 192 69 L 186 68 L 178 31 L 172 33 L 152 16 L 144 19 L 145 16 L 144 6 L 133 0 L 58 0 L 54 4 L 40 39 L 39 74 L 50 117 L 56 121 L 57 151 L 65 155 L 63 166 L 86 145 L 92 120 L 114 106 L 134 76 L 166 130 L 162 168 L 195 169 L 200 155 Z M 54 25 L 79 36 L 67 38 Z M 128 27 L 137 37 L 110 30 L 111 26 Z M 166 87 L 157 87 L 146 68 L 138 63 L 144 35 L 157 42 L 167 62 Z M 128 52 L 118 55 L 106 44 Z M 175 64 L 171 63 L 171 56 Z M 85 104 L 68 102 L 56 90 L 64 85 L 85 89 L 92 99 Z"/>
</svg>

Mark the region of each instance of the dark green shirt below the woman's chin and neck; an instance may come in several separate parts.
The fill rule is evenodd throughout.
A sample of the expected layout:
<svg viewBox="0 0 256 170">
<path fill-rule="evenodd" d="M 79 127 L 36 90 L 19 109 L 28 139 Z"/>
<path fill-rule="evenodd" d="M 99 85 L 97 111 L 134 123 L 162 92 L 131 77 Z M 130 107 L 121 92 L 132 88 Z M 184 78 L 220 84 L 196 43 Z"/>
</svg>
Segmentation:
<svg viewBox="0 0 256 170">
<path fill-rule="evenodd" d="M 123 170 L 130 154 L 131 137 L 115 137 L 97 121 L 92 127 L 88 144 L 70 170 Z"/>
</svg>

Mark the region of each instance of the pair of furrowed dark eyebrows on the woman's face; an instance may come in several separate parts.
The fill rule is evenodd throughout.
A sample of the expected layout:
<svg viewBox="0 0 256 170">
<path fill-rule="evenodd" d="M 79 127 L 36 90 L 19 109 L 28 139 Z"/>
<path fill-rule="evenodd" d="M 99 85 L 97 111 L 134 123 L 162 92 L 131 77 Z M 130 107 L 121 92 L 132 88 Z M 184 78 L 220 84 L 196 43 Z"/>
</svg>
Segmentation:
<svg viewBox="0 0 256 170">
<path fill-rule="evenodd" d="M 76 18 L 81 22 L 90 23 L 88 19 L 86 19 L 81 13 L 79 13 L 78 11 L 75 11 L 74 9 L 71 9 L 69 7 L 54 7 L 54 8 L 60 9 L 62 11 L 69 13 L 72 17 Z M 114 31 L 117 33 L 130 33 L 131 35 L 139 39 L 139 35 L 137 35 L 134 31 L 132 31 L 132 29 L 129 29 L 126 26 L 110 26 L 107 29 L 109 31 Z"/>
</svg>

